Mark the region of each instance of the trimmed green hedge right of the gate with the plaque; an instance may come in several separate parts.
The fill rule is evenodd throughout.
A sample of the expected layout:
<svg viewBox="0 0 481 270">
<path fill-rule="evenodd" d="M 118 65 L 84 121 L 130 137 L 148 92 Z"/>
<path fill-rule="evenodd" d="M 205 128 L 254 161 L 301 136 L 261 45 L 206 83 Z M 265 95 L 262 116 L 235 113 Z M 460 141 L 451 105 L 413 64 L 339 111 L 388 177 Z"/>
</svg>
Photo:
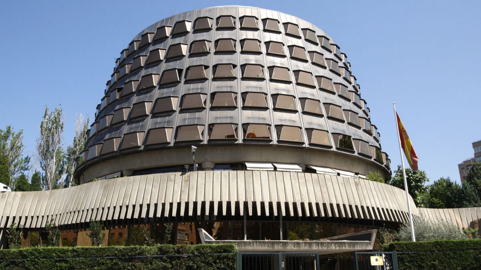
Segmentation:
<svg viewBox="0 0 481 270">
<path fill-rule="evenodd" d="M 397 255 L 400 270 L 456 270 L 481 268 L 481 240 L 393 242 L 384 251 Z"/>
</svg>

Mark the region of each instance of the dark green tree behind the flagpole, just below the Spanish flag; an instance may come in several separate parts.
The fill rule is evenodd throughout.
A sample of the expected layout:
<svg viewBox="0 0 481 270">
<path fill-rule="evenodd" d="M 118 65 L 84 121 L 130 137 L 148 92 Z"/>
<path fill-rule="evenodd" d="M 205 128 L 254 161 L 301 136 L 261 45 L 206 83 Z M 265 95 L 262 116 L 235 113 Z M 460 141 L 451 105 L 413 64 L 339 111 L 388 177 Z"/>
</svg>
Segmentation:
<svg viewBox="0 0 481 270">
<path fill-rule="evenodd" d="M 409 195 L 411 195 L 414 203 L 416 204 L 416 206 L 418 206 L 418 204 L 420 203 L 420 195 L 427 190 L 424 183 L 428 182 L 429 178 L 426 176 L 426 172 L 424 171 L 414 171 L 410 168 L 407 168 L 406 180 L 407 188 L 409 189 Z M 401 189 L 405 189 L 403 168 L 401 167 L 401 165 L 397 165 L 397 170 L 394 171 L 394 176 L 392 176 L 388 184 L 399 187 Z"/>
</svg>

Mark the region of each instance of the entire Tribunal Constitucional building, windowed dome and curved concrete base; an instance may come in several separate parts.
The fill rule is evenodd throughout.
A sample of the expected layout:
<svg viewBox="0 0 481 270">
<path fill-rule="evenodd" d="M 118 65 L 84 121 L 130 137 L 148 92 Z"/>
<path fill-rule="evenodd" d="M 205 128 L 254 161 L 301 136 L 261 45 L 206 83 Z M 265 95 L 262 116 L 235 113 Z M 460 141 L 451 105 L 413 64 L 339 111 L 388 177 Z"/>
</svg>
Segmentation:
<svg viewBox="0 0 481 270">
<path fill-rule="evenodd" d="M 99 98 L 78 185 L 1 193 L 2 247 L 13 222 L 29 232 L 23 246 L 41 244 L 51 219 L 61 245 L 89 245 L 91 220 L 104 222 L 104 245 L 141 245 L 144 228 L 156 243 L 198 244 L 408 221 L 404 191 L 364 176 L 391 168 L 351 63 L 300 18 L 225 6 L 160 20 L 121 51 Z M 481 218 L 479 208 L 413 214 L 459 227 Z"/>
</svg>

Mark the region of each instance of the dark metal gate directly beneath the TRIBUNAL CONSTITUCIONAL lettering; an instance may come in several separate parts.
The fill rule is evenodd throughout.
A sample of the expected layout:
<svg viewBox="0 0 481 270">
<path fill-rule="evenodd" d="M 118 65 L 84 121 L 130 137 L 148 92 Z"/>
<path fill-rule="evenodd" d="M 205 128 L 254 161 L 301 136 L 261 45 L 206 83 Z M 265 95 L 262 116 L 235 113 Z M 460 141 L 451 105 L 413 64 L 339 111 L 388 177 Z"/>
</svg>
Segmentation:
<svg viewBox="0 0 481 270">
<path fill-rule="evenodd" d="M 317 252 L 239 253 L 238 270 L 319 270 Z"/>
</svg>

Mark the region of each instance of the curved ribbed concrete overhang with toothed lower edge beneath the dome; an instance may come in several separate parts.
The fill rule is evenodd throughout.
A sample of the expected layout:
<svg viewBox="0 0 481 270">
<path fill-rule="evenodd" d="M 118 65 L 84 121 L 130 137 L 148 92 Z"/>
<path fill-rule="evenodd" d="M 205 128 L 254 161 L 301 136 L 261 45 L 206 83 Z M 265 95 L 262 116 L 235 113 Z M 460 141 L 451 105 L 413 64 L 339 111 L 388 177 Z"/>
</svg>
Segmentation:
<svg viewBox="0 0 481 270">
<path fill-rule="evenodd" d="M 411 199 L 411 205 L 414 201 Z M 396 227 L 408 221 L 405 193 L 359 178 L 304 172 L 171 172 L 69 188 L 5 192 L 0 228 L 78 227 L 160 221 L 319 221 Z M 418 209 L 413 209 L 415 217 Z"/>
</svg>

